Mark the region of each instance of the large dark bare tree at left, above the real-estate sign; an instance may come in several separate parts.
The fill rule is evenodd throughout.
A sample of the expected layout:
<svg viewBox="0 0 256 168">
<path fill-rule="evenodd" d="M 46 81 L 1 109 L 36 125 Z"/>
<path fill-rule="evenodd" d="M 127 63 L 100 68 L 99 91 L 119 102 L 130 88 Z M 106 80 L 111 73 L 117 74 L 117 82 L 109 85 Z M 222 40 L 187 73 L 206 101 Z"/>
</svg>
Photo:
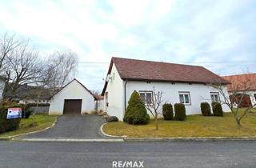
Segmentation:
<svg viewBox="0 0 256 168">
<path fill-rule="evenodd" d="M 11 54 L 6 55 L 6 82 L 3 90 L 3 98 L 13 99 L 22 85 L 32 84 L 38 81 L 41 72 L 41 60 L 38 52 L 30 49 L 28 43 L 19 43 Z"/>
</svg>

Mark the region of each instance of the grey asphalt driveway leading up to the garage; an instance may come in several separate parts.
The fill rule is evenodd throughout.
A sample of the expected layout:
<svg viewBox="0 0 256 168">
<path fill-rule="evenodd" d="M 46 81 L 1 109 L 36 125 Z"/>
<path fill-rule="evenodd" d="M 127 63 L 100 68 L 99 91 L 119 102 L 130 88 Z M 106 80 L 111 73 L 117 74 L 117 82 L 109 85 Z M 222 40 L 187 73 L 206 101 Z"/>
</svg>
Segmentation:
<svg viewBox="0 0 256 168">
<path fill-rule="evenodd" d="M 58 117 L 53 128 L 18 138 L 106 138 L 100 132 L 104 122 L 105 119 L 99 115 L 66 114 Z"/>
</svg>

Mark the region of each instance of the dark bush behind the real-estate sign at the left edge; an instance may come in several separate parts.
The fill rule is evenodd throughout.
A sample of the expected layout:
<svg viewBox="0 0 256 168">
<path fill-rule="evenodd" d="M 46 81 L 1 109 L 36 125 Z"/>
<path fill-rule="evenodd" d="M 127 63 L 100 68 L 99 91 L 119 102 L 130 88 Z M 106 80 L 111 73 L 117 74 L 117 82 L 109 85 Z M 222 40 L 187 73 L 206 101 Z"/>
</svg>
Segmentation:
<svg viewBox="0 0 256 168">
<path fill-rule="evenodd" d="M 21 106 L 3 106 L 0 105 L 0 134 L 10 131 L 10 130 L 17 130 L 19 122 L 21 121 L 21 118 L 12 118 L 7 119 L 7 110 L 9 107 L 21 107 Z"/>
</svg>

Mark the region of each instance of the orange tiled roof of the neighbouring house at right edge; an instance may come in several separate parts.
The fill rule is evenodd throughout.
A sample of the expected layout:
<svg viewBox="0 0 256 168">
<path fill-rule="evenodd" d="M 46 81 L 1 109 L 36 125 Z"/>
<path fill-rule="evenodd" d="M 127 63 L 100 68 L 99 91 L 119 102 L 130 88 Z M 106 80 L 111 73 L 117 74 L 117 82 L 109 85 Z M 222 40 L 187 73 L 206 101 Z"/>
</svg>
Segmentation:
<svg viewBox="0 0 256 168">
<path fill-rule="evenodd" d="M 223 76 L 231 84 L 227 85 L 228 91 L 235 90 L 256 90 L 256 73 L 254 74 L 236 74 Z"/>
</svg>

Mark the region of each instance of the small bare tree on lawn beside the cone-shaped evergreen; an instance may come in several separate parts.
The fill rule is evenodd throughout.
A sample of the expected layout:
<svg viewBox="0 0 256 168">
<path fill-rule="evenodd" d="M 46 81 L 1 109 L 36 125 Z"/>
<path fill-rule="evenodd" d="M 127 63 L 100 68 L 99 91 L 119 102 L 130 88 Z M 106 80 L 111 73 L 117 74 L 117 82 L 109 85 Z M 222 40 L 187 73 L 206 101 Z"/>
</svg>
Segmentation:
<svg viewBox="0 0 256 168">
<path fill-rule="evenodd" d="M 153 87 L 152 102 L 146 103 L 146 109 L 150 111 L 150 114 L 154 117 L 155 130 L 158 130 L 158 115 L 162 114 L 162 91 L 156 91 Z"/>
</svg>

